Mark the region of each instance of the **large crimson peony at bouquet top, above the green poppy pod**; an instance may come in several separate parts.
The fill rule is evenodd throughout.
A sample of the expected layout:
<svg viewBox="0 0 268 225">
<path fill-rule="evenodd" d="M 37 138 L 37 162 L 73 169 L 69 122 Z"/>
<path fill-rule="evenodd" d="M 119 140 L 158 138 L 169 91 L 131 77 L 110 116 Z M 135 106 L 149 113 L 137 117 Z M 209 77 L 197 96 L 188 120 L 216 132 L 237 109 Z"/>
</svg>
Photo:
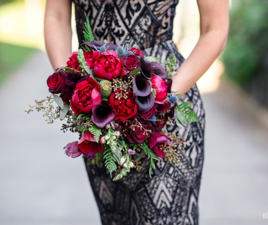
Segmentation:
<svg viewBox="0 0 268 225">
<path fill-rule="evenodd" d="M 86 63 L 93 69 L 95 77 L 111 81 L 113 78 L 126 75 L 122 61 L 114 51 L 107 50 L 102 54 L 95 51 L 92 54 L 93 58 L 86 59 Z"/>
</svg>

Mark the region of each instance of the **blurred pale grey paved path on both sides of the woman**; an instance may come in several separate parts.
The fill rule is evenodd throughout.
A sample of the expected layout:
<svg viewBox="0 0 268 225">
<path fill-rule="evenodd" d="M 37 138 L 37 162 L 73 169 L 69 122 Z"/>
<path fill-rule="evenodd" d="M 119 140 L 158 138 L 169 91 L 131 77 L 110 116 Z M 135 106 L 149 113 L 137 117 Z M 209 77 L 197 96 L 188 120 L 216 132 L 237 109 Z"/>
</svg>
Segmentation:
<svg viewBox="0 0 268 225">
<path fill-rule="evenodd" d="M 63 134 L 60 121 L 46 124 L 41 112 L 24 112 L 47 96 L 51 73 L 40 52 L 0 89 L 0 224 L 100 225 L 83 160 L 62 149 L 77 135 Z M 235 93 L 224 85 L 203 95 L 201 225 L 268 224 L 268 129 Z"/>
</svg>

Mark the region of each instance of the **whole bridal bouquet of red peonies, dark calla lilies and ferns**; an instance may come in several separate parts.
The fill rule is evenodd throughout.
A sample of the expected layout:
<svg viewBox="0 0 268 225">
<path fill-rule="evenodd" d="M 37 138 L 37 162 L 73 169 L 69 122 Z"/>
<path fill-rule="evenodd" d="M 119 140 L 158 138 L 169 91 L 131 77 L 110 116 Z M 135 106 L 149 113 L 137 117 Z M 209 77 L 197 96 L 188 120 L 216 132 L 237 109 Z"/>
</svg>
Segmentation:
<svg viewBox="0 0 268 225">
<path fill-rule="evenodd" d="M 26 112 L 44 111 L 48 123 L 65 120 L 64 132 L 80 133 L 79 141 L 64 147 L 66 155 L 104 162 L 111 177 L 115 172 L 114 181 L 131 168 L 140 169 L 145 157 L 150 176 L 155 161 L 179 163 L 176 152 L 183 149 L 184 139 L 162 129 L 168 120 L 188 123 L 198 118 L 190 103 L 177 105 L 180 96 L 171 92 L 175 55 L 158 62 L 130 44 L 97 42 L 88 21 L 84 35 L 83 49 L 47 78 L 51 96 L 36 100 Z"/>
</svg>

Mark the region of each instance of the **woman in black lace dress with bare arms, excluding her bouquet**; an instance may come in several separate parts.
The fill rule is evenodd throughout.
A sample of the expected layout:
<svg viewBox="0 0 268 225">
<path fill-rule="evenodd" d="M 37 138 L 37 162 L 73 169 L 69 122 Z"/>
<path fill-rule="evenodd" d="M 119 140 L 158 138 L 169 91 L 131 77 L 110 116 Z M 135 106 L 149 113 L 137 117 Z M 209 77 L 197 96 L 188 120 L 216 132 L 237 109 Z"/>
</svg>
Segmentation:
<svg viewBox="0 0 268 225">
<path fill-rule="evenodd" d="M 45 15 L 46 49 L 53 68 L 66 65 L 71 56 L 71 1 L 47 0 Z M 83 40 L 85 13 L 95 40 L 115 44 L 131 42 L 147 55 L 168 59 L 175 53 L 178 68 L 172 90 L 189 101 L 200 122 L 168 123 L 168 132 L 182 133 L 185 149 L 181 162 L 157 163 L 153 179 L 148 162 L 112 182 L 103 165 L 85 158 L 91 187 L 103 224 L 198 224 L 197 199 L 204 159 L 204 109 L 196 81 L 206 72 L 225 47 L 229 17 L 228 0 L 197 0 L 200 38 L 187 60 L 173 43 L 172 28 L 178 0 L 75 0 L 79 44 Z M 85 12 L 85 13 L 84 13 Z"/>
</svg>

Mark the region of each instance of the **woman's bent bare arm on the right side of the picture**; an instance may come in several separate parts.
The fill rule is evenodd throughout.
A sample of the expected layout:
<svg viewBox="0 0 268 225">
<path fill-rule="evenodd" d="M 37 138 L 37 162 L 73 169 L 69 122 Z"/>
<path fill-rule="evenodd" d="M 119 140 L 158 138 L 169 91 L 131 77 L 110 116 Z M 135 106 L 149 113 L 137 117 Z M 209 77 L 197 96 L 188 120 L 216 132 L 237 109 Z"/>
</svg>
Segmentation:
<svg viewBox="0 0 268 225">
<path fill-rule="evenodd" d="M 200 38 L 173 76 L 172 91 L 185 94 L 207 71 L 226 45 L 229 30 L 228 0 L 197 0 Z"/>
</svg>

